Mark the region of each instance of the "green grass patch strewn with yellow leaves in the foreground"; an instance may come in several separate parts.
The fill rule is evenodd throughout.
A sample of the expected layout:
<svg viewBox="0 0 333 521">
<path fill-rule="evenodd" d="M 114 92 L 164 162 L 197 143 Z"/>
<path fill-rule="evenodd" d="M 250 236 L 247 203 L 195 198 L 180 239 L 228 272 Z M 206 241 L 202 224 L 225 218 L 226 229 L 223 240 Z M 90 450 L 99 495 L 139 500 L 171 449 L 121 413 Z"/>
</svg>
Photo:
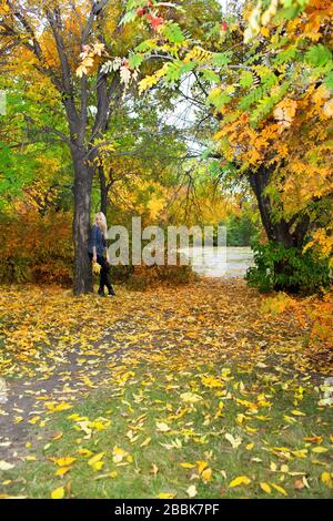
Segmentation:
<svg viewBox="0 0 333 521">
<path fill-rule="evenodd" d="M 309 379 L 220 364 L 128 369 L 114 388 L 52 415 L 49 440 L 0 471 L 4 497 L 50 498 L 64 487 L 67 498 L 188 498 L 190 486 L 201 499 L 332 497 L 332 408 L 319 407 Z M 63 457 L 75 460 L 54 461 Z M 248 484 L 230 487 L 241 476 Z"/>
</svg>

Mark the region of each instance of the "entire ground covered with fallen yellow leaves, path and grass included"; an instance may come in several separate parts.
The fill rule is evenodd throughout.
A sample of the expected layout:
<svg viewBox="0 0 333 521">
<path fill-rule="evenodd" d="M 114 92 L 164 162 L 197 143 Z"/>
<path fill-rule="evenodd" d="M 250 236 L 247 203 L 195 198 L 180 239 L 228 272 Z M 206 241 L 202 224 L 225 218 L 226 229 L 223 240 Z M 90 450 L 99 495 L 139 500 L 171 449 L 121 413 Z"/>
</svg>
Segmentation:
<svg viewBox="0 0 333 521">
<path fill-rule="evenodd" d="M 332 356 L 293 309 L 241 279 L 0 300 L 2 498 L 332 497 Z"/>
</svg>

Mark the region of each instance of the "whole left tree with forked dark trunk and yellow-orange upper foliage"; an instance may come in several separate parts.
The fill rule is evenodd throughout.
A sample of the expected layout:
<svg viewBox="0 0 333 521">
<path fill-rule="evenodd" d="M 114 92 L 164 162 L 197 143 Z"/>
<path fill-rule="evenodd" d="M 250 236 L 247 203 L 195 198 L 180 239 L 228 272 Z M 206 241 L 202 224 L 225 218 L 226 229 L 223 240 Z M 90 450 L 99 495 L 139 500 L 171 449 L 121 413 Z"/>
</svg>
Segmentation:
<svg viewBox="0 0 333 521">
<path fill-rule="evenodd" d="M 112 105 L 122 94 L 119 74 L 105 74 L 98 65 L 97 81 L 75 74 L 79 54 L 93 33 L 94 51 L 117 39 L 122 2 L 2 1 L 0 41 L 4 62 L 12 63 L 12 75 L 30 74 L 36 93 L 44 89 L 49 105 L 61 104 L 65 130 L 30 123 L 58 136 L 69 146 L 73 172 L 74 293 L 92 289 L 87 242 L 90 229 L 91 183 L 99 156 L 97 140 L 108 123 Z M 108 24 L 105 22 L 108 21 Z M 105 37 L 107 33 L 107 37 Z M 90 105 L 97 106 L 92 115 Z"/>
</svg>

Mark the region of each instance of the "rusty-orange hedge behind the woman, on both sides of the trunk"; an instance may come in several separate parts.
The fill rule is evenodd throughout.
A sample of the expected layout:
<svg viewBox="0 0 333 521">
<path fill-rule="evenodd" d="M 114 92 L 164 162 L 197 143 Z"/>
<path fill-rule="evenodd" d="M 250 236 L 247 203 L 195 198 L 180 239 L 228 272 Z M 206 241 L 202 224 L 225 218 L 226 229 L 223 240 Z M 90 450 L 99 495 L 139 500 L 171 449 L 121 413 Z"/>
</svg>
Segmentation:
<svg viewBox="0 0 333 521">
<path fill-rule="evenodd" d="M 69 212 L 36 212 L 0 216 L 0 283 L 72 284 L 72 216 Z M 190 266 L 112 266 L 112 283 L 143 290 L 159 284 L 188 284 Z"/>
</svg>

